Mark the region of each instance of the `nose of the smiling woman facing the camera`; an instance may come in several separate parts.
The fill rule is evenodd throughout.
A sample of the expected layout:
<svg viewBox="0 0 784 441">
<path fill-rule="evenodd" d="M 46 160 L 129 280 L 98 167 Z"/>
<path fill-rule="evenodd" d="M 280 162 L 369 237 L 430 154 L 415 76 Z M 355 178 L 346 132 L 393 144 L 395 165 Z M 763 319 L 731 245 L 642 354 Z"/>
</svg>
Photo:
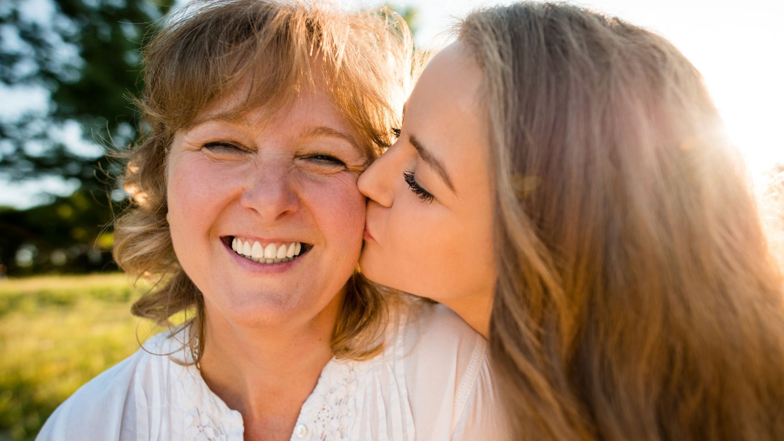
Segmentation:
<svg viewBox="0 0 784 441">
<path fill-rule="evenodd" d="M 299 209 L 299 196 L 292 188 L 289 168 L 267 166 L 254 170 L 251 184 L 242 192 L 241 205 L 255 210 L 263 221 L 278 221 Z"/>
</svg>

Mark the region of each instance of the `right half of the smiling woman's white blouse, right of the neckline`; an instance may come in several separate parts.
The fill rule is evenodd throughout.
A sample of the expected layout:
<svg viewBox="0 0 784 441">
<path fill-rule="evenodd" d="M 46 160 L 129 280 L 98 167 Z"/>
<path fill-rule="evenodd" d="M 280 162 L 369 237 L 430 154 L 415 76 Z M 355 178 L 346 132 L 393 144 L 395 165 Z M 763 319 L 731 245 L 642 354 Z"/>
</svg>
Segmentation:
<svg viewBox="0 0 784 441">
<path fill-rule="evenodd" d="M 495 400 L 486 352 L 485 339 L 443 305 L 396 301 L 383 352 L 328 363 L 296 427 L 341 441 L 489 439 L 495 421 L 485 415 Z"/>
</svg>

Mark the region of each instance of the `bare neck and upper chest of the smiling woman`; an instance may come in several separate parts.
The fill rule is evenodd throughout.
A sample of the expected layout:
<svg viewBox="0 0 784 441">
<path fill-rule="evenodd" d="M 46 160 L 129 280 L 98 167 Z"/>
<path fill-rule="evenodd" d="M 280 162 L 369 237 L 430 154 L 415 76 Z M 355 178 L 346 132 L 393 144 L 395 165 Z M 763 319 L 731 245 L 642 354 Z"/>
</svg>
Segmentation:
<svg viewBox="0 0 784 441">
<path fill-rule="evenodd" d="M 245 439 L 290 439 L 299 409 L 332 358 L 342 304 L 341 294 L 313 319 L 273 328 L 237 326 L 205 305 L 201 376 L 242 414 Z"/>
</svg>

